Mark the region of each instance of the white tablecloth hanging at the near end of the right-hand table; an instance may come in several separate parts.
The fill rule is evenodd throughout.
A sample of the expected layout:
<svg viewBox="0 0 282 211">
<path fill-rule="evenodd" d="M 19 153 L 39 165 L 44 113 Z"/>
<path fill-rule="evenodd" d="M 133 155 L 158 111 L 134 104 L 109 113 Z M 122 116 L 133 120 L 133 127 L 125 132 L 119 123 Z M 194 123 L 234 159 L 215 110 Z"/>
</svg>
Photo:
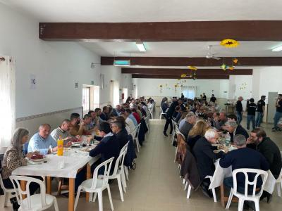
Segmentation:
<svg viewBox="0 0 282 211">
<path fill-rule="evenodd" d="M 232 177 L 232 168 L 231 166 L 228 168 L 223 168 L 219 165 L 219 160 L 216 160 L 214 165 L 216 166 L 216 170 L 214 171 L 214 176 L 212 177 L 211 184 L 209 185 L 209 189 L 216 188 L 223 184 L 223 180 L 226 177 Z M 276 179 L 273 174 L 268 171 L 268 177 L 266 179 L 266 184 L 264 185 L 264 191 L 271 193 L 274 191 Z"/>
</svg>

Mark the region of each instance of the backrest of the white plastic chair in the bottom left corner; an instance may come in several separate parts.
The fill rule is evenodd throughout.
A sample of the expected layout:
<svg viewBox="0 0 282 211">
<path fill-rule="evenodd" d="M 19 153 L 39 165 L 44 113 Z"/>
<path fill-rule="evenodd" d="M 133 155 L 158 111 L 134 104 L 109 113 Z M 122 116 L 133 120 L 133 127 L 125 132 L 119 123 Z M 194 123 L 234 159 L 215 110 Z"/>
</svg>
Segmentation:
<svg viewBox="0 0 282 211">
<path fill-rule="evenodd" d="M 16 192 L 16 198 L 18 200 L 18 204 L 23 208 L 23 210 L 32 210 L 32 204 L 30 198 L 30 183 L 32 182 L 37 183 L 40 186 L 40 199 L 41 199 L 42 208 L 47 206 L 46 188 L 43 181 L 41 181 L 40 179 L 35 179 L 33 177 L 16 176 L 16 175 L 11 175 L 10 179 L 12 181 L 13 188 Z M 26 182 L 25 191 L 20 187 L 20 181 Z M 23 203 L 23 195 L 27 196 L 27 203 Z"/>
</svg>

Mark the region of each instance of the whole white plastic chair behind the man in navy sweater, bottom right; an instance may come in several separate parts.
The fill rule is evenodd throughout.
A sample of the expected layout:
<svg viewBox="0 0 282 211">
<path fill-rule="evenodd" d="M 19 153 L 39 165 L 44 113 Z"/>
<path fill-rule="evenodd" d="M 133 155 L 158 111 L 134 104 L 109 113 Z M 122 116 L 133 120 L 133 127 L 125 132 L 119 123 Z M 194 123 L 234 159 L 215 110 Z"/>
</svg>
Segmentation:
<svg viewBox="0 0 282 211">
<path fill-rule="evenodd" d="M 237 191 L 237 174 L 245 174 L 245 193 L 239 193 Z M 249 181 L 249 177 L 247 173 L 253 173 L 255 174 L 255 179 L 254 181 Z M 256 193 L 256 186 L 257 186 L 257 179 L 259 176 L 262 176 L 262 186 L 260 188 L 259 193 Z M 229 209 L 231 205 L 231 201 L 233 198 L 233 195 L 239 198 L 239 203 L 238 203 L 238 211 L 243 210 L 243 205 L 245 200 L 251 200 L 255 202 L 255 209 L 256 211 L 259 211 L 259 198 L 262 196 L 262 192 L 264 190 L 264 185 L 267 179 L 268 173 L 263 171 L 263 170 L 255 170 L 255 169 L 237 169 L 232 172 L 232 177 L 233 177 L 233 188 L 231 188 L 230 195 L 228 198 L 228 203 L 226 205 L 226 210 Z M 252 195 L 248 194 L 248 189 L 249 185 L 252 185 Z"/>
</svg>

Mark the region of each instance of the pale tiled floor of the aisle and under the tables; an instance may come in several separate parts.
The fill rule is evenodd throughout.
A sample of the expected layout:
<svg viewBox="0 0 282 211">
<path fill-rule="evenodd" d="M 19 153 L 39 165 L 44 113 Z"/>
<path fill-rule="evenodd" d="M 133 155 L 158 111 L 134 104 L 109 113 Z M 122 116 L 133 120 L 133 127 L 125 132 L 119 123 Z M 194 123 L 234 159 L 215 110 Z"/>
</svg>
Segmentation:
<svg viewBox="0 0 282 211">
<path fill-rule="evenodd" d="M 271 125 L 263 126 L 271 139 L 275 140 L 282 149 L 282 132 L 269 132 Z M 130 170 L 124 202 L 121 202 L 116 181 L 111 184 L 114 210 L 225 210 L 219 202 L 214 203 L 212 198 L 205 197 L 200 190 L 192 191 L 189 200 L 186 198 L 187 192 L 184 191 L 182 179 L 178 176 L 177 165 L 173 162 L 175 148 L 171 146 L 170 137 L 163 136 L 163 128 L 164 120 L 151 121 L 151 134 L 147 136 L 144 146 L 137 154 L 136 170 Z M 216 191 L 219 200 L 219 190 Z M 106 191 L 103 196 L 104 210 L 111 210 Z M 59 197 L 58 202 L 59 210 L 67 210 L 67 198 Z M 278 198 L 275 191 L 272 202 L 270 204 L 261 202 L 260 208 L 282 210 L 282 198 Z M 4 210 L 11 210 L 11 207 Z M 78 203 L 78 210 L 98 210 L 98 203 L 86 203 L 85 198 L 82 197 Z M 230 210 L 237 210 L 237 203 L 232 203 Z"/>
</svg>

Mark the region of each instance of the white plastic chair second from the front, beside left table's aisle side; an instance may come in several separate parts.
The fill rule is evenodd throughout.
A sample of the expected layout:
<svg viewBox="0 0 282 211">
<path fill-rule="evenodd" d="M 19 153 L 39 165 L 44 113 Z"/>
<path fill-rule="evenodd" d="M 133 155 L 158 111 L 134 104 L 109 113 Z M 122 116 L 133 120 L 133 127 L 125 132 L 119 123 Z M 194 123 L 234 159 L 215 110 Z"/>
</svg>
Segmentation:
<svg viewBox="0 0 282 211">
<path fill-rule="evenodd" d="M 123 191 L 125 191 L 125 175 L 124 175 L 124 169 L 123 169 L 123 162 L 124 162 L 124 157 L 125 157 L 125 151 L 123 151 L 118 158 L 116 159 L 116 164 L 114 167 L 114 172 L 113 174 L 109 175 L 109 179 L 116 179 L 118 181 L 118 189 L 119 193 L 121 195 L 121 201 L 124 201 L 123 199 Z"/>
</svg>

